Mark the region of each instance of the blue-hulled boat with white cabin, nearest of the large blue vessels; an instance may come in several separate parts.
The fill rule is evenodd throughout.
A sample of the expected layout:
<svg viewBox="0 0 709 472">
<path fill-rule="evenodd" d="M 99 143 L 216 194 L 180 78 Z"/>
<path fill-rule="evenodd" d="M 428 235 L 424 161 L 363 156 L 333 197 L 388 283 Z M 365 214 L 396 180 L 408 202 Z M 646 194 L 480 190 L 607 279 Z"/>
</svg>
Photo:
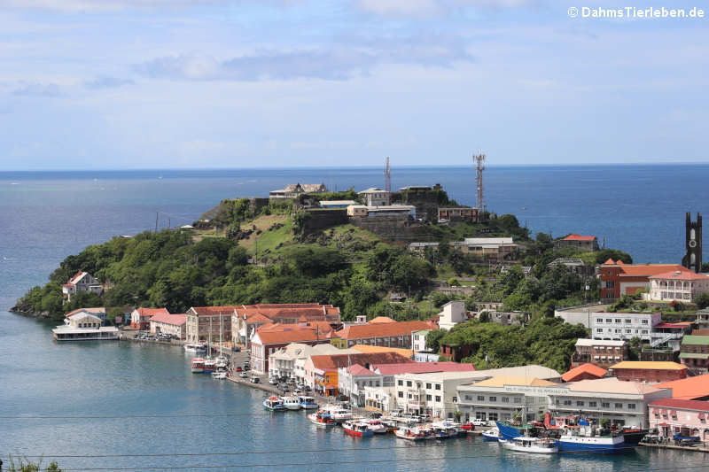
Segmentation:
<svg viewBox="0 0 709 472">
<path fill-rule="evenodd" d="M 557 441 L 562 453 L 624 453 L 633 451 L 635 445 L 627 444 L 623 433 L 595 428 L 581 421 L 579 426 L 566 427 Z"/>
</svg>

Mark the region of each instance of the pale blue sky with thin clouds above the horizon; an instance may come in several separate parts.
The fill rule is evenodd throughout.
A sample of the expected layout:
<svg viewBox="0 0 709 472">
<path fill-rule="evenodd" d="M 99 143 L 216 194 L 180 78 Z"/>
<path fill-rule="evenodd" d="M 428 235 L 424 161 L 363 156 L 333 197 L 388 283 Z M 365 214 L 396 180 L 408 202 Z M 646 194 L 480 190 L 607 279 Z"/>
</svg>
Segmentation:
<svg viewBox="0 0 709 472">
<path fill-rule="evenodd" d="M 0 0 L 0 170 L 706 161 L 709 5 L 585 1 Z"/>
</svg>

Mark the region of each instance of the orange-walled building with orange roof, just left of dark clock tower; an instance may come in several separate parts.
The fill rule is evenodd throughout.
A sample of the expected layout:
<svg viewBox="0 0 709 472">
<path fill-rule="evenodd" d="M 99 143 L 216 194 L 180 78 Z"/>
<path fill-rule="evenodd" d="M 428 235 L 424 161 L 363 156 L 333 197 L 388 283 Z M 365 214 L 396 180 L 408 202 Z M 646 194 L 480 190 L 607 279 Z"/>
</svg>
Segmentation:
<svg viewBox="0 0 709 472">
<path fill-rule="evenodd" d="M 679 264 L 625 264 L 608 259 L 599 267 L 601 300 L 612 303 L 623 295 L 650 290 L 650 277 L 667 272 L 689 272 Z"/>
</svg>

